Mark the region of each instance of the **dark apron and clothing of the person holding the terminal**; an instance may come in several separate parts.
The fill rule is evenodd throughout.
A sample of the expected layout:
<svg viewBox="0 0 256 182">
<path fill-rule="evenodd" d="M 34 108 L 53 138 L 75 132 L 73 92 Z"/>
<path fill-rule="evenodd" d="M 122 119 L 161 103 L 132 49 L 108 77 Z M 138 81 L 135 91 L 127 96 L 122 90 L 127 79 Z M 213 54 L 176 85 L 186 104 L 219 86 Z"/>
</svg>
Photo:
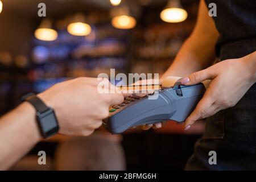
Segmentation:
<svg viewBox="0 0 256 182">
<path fill-rule="evenodd" d="M 235 59 L 256 51 L 256 1 L 206 0 L 216 3 L 214 18 L 220 38 L 216 52 L 221 60 Z M 210 165 L 209 151 L 216 151 L 217 164 Z M 205 133 L 195 144 L 187 170 L 256 170 L 256 84 L 229 109 L 208 118 Z"/>
</svg>

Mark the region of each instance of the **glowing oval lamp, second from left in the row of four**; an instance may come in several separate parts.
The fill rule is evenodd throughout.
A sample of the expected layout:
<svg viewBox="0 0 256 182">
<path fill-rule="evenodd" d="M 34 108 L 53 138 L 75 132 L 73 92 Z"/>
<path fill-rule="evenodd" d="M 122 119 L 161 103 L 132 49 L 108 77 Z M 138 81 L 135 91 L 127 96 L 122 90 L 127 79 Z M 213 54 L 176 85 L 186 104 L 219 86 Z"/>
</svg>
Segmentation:
<svg viewBox="0 0 256 182">
<path fill-rule="evenodd" d="M 76 22 L 68 25 L 68 32 L 71 35 L 85 36 L 89 35 L 90 31 L 92 31 L 92 28 L 87 23 Z"/>
</svg>

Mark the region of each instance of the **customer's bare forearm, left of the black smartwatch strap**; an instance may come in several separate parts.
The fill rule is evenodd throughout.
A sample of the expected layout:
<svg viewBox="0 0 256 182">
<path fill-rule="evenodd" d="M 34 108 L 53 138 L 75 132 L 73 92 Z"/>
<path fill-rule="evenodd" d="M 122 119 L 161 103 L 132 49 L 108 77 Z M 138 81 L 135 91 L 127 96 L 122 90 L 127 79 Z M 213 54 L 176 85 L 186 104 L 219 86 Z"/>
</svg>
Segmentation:
<svg viewBox="0 0 256 182">
<path fill-rule="evenodd" d="M 0 169 L 8 169 L 40 140 L 36 112 L 27 102 L 0 118 Z"/>
</svg>

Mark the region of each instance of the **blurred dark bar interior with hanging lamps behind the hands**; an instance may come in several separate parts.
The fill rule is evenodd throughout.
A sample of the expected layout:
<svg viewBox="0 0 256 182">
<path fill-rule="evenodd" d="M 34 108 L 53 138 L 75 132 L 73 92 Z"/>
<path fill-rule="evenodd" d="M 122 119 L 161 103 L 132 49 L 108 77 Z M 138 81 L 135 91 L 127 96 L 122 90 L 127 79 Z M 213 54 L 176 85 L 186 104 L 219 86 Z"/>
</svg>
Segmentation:
<svg viewBox="0 0 256 182">
<path fill-rule="evenodd" d="M 97 77 L 99 73 L 109 74 L 110 68 L 115 68 L 116 74 L 161 75 L 191 34 L 199 5 L 198 0 L 1 2 L 1 115 L 18 105 L 24 94 L 43 92 L 69 78 Z M 41 2 L 46 4 L 46 18 L 38 16 Z M 185 13 L 163 12 L 180 5 Z M 176 19 L 170 19 L 168 13 Z M 177 23 L 172 23 L 175 21 Z M 56 136 L 40 142 L 13 169 L 183 169 L 203 129 L 204 126 L 199 124 L 190 133 L 184 133 L 183 126 L 170 122 L 160 130 L 134 130 L 118 137 L 103 130 L 88 138 Z M 105 146 L 108 142 L 114 143 L 113 146 Z M 83 145 L 84 148 L 77 148 Z M 89 151 L 89 146 L 92 151 Z M 36 162 L 40 150 L 49 156 L 47 166 L 39 166 Z M 97 151 L 101 152 L 95 156 L 96 160 L 90 164 L 86 162 Z M 116 155 L 111 155 L 115 152 Z M 81 164 L 86 167 L 65 168 L 72 166 L 71 162 L 60 162 L 75 155 L 81 156 L 77 160 L 86 163 Z M 111 163 L 104 160 L 108 156 L 120 163 L 112 168 L 106 167 Z M 98 159 L 102 163 L 105 161 L 106 166 L 102 166 Z"/>
</svg>

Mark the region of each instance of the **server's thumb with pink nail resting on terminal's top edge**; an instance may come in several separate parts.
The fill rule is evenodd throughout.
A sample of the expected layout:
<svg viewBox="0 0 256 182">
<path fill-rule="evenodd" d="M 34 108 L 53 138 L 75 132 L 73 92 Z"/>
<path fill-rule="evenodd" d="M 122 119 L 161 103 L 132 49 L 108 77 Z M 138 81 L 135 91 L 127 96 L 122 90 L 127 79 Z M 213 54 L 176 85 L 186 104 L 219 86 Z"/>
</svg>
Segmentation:
<svg viewBox="0 0 256 182">
<path fill-rule="evenodd" d="M 192 73 L 188 77 L 181 78 L 180 82 L 182 85 L 195 85 L 205 80 L 212 80 L 214 77 L 213 72 L 210 68 L 203 69 L 201 71 Z"/>
</svg>

